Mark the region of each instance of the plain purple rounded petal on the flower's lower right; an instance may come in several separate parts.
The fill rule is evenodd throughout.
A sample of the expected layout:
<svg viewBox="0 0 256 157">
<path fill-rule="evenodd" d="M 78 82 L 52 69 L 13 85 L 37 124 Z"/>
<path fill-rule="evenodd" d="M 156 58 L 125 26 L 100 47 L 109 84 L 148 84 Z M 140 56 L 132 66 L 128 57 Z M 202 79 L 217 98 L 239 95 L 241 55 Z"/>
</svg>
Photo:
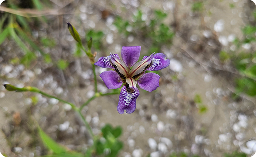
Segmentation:
<svg viewBox="0 0 256 157">
<path fill-rule="evenodd" d="M 138 80 L 138 85 L 140 88 L 152 92 L 159 87 L 160 76 L 156 73 L 146 73 Z"/>
</svg>

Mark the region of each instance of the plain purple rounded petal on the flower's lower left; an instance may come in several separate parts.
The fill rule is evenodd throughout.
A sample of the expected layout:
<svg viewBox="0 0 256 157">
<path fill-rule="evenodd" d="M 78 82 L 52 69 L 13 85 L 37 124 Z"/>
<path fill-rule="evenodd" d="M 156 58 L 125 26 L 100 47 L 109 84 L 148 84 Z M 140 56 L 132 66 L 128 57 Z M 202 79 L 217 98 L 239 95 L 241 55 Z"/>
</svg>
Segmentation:
<svg viewBox="0 0 256 157">
<path fill-rule="evenodd" d="M 114 71 L 105 71 L 99 74 L 108 89 L 120 88 L 123 84 L 120 76 Z"/>
</svg>

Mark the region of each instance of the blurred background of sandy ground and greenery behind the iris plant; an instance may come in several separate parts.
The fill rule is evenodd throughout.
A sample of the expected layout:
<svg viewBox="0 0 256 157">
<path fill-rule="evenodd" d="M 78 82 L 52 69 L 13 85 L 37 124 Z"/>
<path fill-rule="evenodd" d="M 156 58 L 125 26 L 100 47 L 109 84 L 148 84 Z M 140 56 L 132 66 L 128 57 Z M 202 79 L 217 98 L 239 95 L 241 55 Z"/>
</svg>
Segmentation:
<svg viewBox="0 0 256 157">
<path fill-rule="evenodd" d="M 99 143 L 108 143 L 102 128 L 121 131 L 117 145 L 97 144 L 88 156 L 256 156 L 255 4 L 1 0 L 0 84 L 34 86 L 78 107 L 93 96 L 90 60 L 70 35 L 70 22 L 83 45 L 93 38 L 96 60 L 110 52 L 121 56 L 122 46 L 141 46 L 140 60 L 154 52 L 170 60 L 156 72 L 156 91 L 139 88 L 132 114 L 118 114 L 118 95 L 83 108 L 93 133 L 103 135 Z M 105 70 L 96 67 L 102 93 L 110 91 L 98 76 Z M 94 145 L 71 106 L 38 93 L 1 86 L 0 119 L 3 157 L 64 156 L 45 144 L 48 137 L 80 153 L 71 156 L 87 156 Z"/>
</svg>

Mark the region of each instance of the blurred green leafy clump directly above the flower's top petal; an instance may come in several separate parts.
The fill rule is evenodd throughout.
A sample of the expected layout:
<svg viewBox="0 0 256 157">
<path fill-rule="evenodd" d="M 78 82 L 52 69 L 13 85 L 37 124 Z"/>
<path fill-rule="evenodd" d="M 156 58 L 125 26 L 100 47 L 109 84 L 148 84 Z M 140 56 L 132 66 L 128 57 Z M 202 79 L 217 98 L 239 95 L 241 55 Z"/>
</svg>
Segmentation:
<svg viewBox="0 0 256 157">
<path fill-rule="evenodd" d="M 142 35 L 140 38 L 149 39 L 151 45 L 148 54 L 158 53 L 163 45 L 170 46 L 174 35 L 171 28 L 163 23 L 167 14 L 161 10 L 155 10 L 153 13 L 154 17 L 150 19 L 149 24 L 143 20 L 143 13 L 140 10 L 133 16 L 132 22 L 120 16 L 117 16 L 114 22 L 117 30 L 125 37 Z"/>
</svg>

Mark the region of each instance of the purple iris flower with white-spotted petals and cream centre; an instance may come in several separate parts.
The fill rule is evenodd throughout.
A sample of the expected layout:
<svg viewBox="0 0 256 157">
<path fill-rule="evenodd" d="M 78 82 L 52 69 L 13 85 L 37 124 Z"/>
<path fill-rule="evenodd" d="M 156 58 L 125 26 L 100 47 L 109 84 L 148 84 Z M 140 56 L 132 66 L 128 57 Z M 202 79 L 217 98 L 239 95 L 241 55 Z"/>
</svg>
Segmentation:
<svg viewBox="0 0 256 157">
<path fill-rule="evenodd" d="M 136 84 L 139 87 L 151 92 L 159 87 L 160 76 L 156 73 L 146 73 L 145 71 L 155 71 L 166 68 L 170 64 L 170 60 L 166 59 L 162 53 L 144 56 L 139 61 L 140 46 L 122 47 L 120 60 L 117 54 L 110 53 L 107 57 L 99 58 L 95 65 L 102 68 L 112 68 L 114 71 L 102 72 L 99 76 L 102 78 L 108 89 L 121 88 L 117 111 L 120 114 L 131 114 L 136 108 L 136 99 L 140 95 Z"/>
</svg>

